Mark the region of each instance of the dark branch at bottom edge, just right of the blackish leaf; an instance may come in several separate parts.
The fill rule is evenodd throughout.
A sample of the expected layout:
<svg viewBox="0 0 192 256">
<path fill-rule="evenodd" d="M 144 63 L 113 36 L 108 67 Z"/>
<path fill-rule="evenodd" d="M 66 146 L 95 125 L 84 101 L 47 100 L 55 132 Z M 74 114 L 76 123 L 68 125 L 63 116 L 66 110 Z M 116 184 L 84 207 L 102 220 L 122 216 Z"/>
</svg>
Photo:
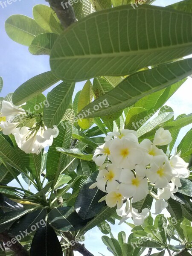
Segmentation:
<svg viewBox="0 0 192 256">
<path fill-rule="evenodd" d="M 94 256 L 84 247 L 84 244 L 79 244 L 77 239 L 75 239 L 70 232 L 63 232 L 63 234 L 69 240 L 71 244 L 71 250 L 75 250 L 81 253 L 83 256 Z"/>
</svg>

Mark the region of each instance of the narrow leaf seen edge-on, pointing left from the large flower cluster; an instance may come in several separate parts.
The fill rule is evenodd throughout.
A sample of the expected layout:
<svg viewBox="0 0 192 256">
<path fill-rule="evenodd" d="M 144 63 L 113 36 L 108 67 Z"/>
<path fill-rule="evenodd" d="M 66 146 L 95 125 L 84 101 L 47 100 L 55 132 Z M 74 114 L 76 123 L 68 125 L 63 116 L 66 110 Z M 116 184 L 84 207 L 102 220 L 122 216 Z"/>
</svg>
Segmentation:
<svg viewBox="0 0 192 256">
<path fill-rule="evenodd" d="M 84 154 L 84 152 L 81 151 L 79 148 L 66 149 L 66 148 L 56 147 L 56 151 L 63 154 L 67 154 L 71 157 L 76 157 L 86 161 L 92 161 L 92 158 L 93 158 L 92 154 Z"/>
</svg>

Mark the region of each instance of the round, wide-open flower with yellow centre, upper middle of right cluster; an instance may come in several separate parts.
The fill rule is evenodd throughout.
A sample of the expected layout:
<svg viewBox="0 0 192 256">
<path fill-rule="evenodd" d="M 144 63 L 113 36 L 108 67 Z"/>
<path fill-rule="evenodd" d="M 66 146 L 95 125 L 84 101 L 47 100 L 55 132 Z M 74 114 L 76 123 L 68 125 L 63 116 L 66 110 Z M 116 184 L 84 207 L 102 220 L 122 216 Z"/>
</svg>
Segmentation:
<svg viewBox="0 0 192 256">
<path fill-rule="evenodd" d="M 136 164 L 143 161 L 143 152 L 138 147 L 137 141 L 129 140 L 126 137 L 113 140 L 110 145 L 112 163 L 122 168 L 134 169 Z"/>
</svg>

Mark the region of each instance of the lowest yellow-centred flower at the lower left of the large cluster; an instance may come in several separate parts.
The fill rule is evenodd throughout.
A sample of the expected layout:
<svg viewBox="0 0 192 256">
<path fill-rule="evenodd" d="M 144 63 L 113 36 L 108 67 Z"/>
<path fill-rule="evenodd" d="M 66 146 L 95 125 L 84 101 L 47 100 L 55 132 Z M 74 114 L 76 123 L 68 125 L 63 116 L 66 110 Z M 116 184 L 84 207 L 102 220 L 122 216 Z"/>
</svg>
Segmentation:
<svg viewBox="0 0 192 256">
<path fill-rule="evenodd" d="M 117 209 L 120 209 L 123 205 L 123 200 L 124 200 L 124 197 L 119 192 L 118 189 L 116 189 L 115 191 L 109 192 L 105 197 L 107 206 L 111 208 L 117 205 Z"/>
</svg>

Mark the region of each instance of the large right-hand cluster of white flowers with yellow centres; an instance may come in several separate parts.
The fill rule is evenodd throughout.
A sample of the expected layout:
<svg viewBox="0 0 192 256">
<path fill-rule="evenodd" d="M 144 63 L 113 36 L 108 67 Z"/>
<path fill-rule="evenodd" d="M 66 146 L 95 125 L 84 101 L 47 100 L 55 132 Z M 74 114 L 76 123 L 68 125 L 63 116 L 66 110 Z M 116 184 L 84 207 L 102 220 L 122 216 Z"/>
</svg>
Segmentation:
<svg viewBox="0 0 192 256">
<path fill-rule="evenodd" d="M 141 225 L 149 215 L 149 209 L 138 213 L 131 203 L 138 202 L 150 194 L 155 198 L 155 214 L 159 214 L 168 204 L 164 200 L 175 199 L 174 193 L 181 186 L 180 177 L 189 177 L 188 163 L 175 155 L 170 160 L 157 145 L 167 145 L 172 141 L 168 130 L 156 131 L 153 143 L 145 139 L 138 142 L 137 132 L 122 130 L 105 137 L 105 144 L 96 148 L 93 161 L 99 166 L 96 186 L 107 195 L 109 207 L 117 205 L 117 214 L 122 223 L 132 217 L 134 224 Z M 149 189 L 154 186 L 157 194 Z M 126 201 L 123 205 L 123 202 Z"/>
</svg>

